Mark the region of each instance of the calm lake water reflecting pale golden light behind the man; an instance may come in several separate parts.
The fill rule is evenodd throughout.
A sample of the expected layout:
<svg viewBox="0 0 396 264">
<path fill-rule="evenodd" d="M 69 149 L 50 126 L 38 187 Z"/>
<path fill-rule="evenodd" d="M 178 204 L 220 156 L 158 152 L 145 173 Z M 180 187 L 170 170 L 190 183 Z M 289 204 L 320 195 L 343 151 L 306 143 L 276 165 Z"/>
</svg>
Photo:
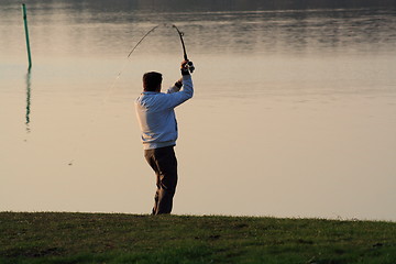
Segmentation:
<svg viewBox="0 0 396 264">
<path fill-rule="evenodd" d="M 395 221 L 396 8 L 364 2 L 28 1 L 28 74 L 1 1 L 0 210 L 151 211 L 133 101 L 179 78 L 176 24 L 197 69 L 174 213 Z"/>
</svg>

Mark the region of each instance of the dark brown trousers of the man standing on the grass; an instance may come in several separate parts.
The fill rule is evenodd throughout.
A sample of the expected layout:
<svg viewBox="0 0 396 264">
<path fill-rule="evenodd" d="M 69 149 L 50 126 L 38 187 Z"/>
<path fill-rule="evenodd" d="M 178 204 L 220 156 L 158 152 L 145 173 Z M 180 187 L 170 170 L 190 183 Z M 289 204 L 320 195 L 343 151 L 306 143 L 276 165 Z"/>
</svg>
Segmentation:
<svg viewBox="0 0 396 264">
<path fill-rule="evenodd" d="M 177 160 L 174 146 L 145 150 L 144 157 L 156 175 L 153 215 L 170 213 L 177 185 Z"/>
</svg>

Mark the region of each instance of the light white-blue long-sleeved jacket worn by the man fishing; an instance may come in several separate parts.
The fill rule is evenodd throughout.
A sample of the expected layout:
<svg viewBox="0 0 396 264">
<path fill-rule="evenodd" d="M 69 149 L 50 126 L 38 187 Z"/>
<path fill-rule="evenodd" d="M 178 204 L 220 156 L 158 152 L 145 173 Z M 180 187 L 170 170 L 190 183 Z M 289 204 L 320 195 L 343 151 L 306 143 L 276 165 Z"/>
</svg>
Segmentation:
<svg viewBox="0 0 396 264">
<path fill-rule="evenodd" d="M 183 76 L 183 89 L 174 86 L 166 94 L 144 91 L 135 101 L 144 150 L 176 145 L 177 122 L 174 108 L 194 94 L 190 75 Z"/>
</svg>

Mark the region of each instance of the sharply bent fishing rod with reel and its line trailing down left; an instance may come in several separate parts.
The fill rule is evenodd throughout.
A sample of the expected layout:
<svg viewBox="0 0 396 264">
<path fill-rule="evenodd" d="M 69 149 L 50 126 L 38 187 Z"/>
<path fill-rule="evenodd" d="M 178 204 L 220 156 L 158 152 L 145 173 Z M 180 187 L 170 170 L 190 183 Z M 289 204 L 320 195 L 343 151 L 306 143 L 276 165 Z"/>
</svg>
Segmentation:
<svg viewBox="0 0 396 264">
<path fill-rule="evenodd" d="M 164 26 L 168 26 L 169 24 L 166 24 L 166 23 L 165 23 L 165 24 L 163 24 L 163 25 L 164 25 Z M 150 31 L 147 31 L 147 33 L 145 33 L 145 34 L 143 35 L 143 37 L 133 46 L 133 48 L 131 50 L 131 52 L 128 54 L 128 56 L 127 56 L 127 58 L 125 58 L 125 62 L 124 62 L 121 70 L 120 70 L 119 74 L 117 75 L 117 77 L 116 77 L 114 81 L 112 82 L 112 85 L 110 86 L 110 88 L 106 91 L 106 96 L 105 96 L 102 102 L 100 103 L 100 107 L 98 108 L 98 111 L 96 112 L 94 119 L 91 120 L 91 124 L 94 124 L 94 122 L 98 119 L 99 113 L 103 110 L 105 105 L 107 103 L 107 101 L 108 101 L 111 92 L 113 91 L 117 81 L 120 79 L 121 74 L 123 73 L 123 70 L 124 70 L 125 67 L 127 67 L 127 64 L 128 64 L 128 62 L 129 62 L 130 56 L 131 56 L 131 55 L 133 54 L 133 52 L 138 48 L 138 46 L 144 41 L 144 38 L 145 38 L 147 35 L 150 35 L 152 32 L 154 32 L 158 26 L 161 26 L 161 24 L 155 25 L 153 29 L 151 29 Z M 183 40 L 184 33 L 180 32 L 179 29 L 178 29 L 175 24 L 170 24 L 170 26 L 174 28 L 174 29 L 177 31 L 177 33 L 178 33 L 178 35 L 179 35 L 179 37 L 180 37 L 182 46 L 183 46 L 184 59 L 185 59 L 185 61 L 188 61 L 187 52 L 186 52 L 186 46 L 185 46 L 185 43 L 184 43 L 184 40 Z M 188 66 L 188 69 L 193 73 L 194 69 L 195 69 L 193 63 L 191 63 L 191 62 L 188 62 L 187 66 Z M 89 125 L 89 128 L 88 128 L 89 131 L 87 130 L 87 131 L 82 134 L 82 138 L 87 138 L 87 135 L 89 134 L 88 132 L 90 132 L 90 130 L 91 130 L 92 128 L 94 128 L 92 125 Z M 80 145 L 79 145 L 79 146 L 80 146 Z M 75 151 L 74 151 L 73 156 L 77 156 L 77 153 L 78 153 L 79 150 L 80 150 L 80 147 L 77 146 L 77 147 L 75 148 Z M 73 158 L 73 160 L 68 163 L 68 165 L 72 166 L 72 165 L 74 164 L 74 162 L 75 162 L 75 158 Z"/>
</svg>

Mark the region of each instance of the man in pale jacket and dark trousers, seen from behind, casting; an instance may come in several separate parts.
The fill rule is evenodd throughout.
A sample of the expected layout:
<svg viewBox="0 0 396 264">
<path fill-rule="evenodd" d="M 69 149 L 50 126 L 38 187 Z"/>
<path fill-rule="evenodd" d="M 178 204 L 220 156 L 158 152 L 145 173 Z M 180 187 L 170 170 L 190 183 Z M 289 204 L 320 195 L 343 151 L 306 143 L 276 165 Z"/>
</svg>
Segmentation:
<svg viewBox="0 0 396 264">
<path fill-rule="evenodd" d="M 178 133 L 174 109 L 194 94 L 188 61 L 182 62 L 182 79 L 163 94 L 162 74 L 144 74 L 143 92 L 135 101 L 144 157 L 156 174 L 157 190 L 152 215 L 170 213 L 176 191 L 177 160 L 174 146 Z"/>
</svg>

